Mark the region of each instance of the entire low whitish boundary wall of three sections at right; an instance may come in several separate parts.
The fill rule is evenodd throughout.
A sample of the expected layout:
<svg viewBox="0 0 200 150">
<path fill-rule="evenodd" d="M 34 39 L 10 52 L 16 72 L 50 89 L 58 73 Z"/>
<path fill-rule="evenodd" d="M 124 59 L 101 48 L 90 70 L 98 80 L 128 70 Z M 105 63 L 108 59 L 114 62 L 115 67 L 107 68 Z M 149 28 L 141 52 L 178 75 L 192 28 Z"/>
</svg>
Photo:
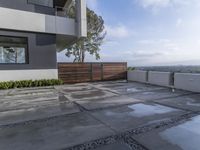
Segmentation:
<svg viewBox="0 0 200 150">
<path fill-rule="evenodd" d="M 128 71 L 128 81 L 149 83 L 200 93 L 200 74 L 157 71 Z"/>
</svg>

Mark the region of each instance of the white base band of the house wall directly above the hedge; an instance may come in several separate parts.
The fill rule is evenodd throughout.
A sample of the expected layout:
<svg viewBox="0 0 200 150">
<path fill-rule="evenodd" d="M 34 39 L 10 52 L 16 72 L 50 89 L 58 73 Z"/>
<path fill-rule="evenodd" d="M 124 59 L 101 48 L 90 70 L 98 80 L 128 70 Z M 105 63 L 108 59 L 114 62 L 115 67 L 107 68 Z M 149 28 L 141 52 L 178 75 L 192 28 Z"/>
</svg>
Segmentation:
<svg viewBox="0 0 200 150">
<path fill-rule="evenodd" d="M 20 80 L 58 79 L 57 69 L 1 70 L 0 82 Z"/>
</svg>

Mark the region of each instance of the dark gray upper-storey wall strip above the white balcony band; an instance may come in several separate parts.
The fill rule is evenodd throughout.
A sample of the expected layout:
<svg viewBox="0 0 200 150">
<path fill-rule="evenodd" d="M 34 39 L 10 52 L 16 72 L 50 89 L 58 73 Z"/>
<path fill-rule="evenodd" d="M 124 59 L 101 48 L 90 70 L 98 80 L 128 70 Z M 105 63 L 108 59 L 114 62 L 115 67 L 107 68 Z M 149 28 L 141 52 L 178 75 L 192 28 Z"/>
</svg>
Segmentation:
<svg viewBox="0 0 200 150">
<path fill-rule="evenodd" d="M 43 13 L 43 14 L 48 14 L 48 15 L 55 15 L 54 8 L 33 5 L 33 4 L 28 3 L 27 0 L 0 0 L 0 7 L 37 12 L 37 13 Z"/>
</svg>

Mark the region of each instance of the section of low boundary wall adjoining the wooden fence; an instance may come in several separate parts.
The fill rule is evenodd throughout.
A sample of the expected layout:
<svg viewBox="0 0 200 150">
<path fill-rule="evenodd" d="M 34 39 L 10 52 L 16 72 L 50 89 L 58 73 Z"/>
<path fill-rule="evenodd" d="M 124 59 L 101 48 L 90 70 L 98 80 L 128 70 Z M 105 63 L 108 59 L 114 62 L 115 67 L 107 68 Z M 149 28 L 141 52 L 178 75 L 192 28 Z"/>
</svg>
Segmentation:
<svg viewBox="0 0 200 150">
<path fill-rule="evenodd" d="M 128 81 L 137 81 L 137 82 L 147 82 L 148 73 L 147 71 L 128 71 Z"/>
</svg>

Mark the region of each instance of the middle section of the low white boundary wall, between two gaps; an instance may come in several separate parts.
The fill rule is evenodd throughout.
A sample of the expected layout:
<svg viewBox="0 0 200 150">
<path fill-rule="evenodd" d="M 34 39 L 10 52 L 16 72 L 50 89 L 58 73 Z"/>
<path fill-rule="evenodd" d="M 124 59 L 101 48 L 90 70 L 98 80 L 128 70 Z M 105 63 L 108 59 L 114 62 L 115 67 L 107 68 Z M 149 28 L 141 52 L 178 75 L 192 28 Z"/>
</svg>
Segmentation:
<svg viewBox="0 0 200 150">
<path fill-rule="evenodd" d="M 149 71 L 148 72 L 148 83 L 159 85 L 159 86 L 172 86 L 172 73 L 170 72 L 157 72 Z"/>
</svg>

